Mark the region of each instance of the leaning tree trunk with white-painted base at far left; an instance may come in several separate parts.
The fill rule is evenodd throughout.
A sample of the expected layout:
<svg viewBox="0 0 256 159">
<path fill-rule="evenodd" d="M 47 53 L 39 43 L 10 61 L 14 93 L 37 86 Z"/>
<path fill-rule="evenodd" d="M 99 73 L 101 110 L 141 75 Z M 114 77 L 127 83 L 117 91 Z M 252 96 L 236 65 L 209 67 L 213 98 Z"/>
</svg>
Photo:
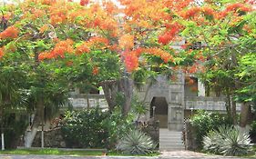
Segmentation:
<svg viewBox="0 0 256 159">
<path fill-rule="evenodd" d="M 36 114 L 31 126 L 31 131 L 26 132 L 25 134 L 25 147 L 31 147 L 34 142 L 39 125 L 43 122 L 42 112 L 44 112 L 44 103 L 43 99 L 39 99 L 38 103 L 36 104 Z"/>
</svg>

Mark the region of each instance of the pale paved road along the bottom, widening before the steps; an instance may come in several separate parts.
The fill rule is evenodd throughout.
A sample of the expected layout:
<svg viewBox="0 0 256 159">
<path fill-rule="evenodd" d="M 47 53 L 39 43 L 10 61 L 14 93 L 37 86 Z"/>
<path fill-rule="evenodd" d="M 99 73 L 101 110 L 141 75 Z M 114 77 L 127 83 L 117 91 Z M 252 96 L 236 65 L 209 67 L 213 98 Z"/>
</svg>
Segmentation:
<svg viewBox="0 0 256 159">
<path fill-rule="evenodd" d="M 155 157 L 137 156 L 65 156 L 65 155 L 10 155 L 0 154 L 0 159 L 241 159 L 239 157 L 223 157 L 188 151 L 162 152 Z"/>
</svg>

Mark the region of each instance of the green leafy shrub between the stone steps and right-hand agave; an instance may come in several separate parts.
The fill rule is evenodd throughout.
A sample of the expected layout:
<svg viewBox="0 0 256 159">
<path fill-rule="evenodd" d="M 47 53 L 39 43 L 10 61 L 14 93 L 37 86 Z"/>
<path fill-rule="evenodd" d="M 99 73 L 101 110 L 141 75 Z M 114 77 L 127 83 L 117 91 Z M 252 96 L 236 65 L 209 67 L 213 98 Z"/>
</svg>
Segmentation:
<svg viewBox="0 0 256 159">
<path fill-rule="evenodd" d="M 230 124 L 230 122 L 220 114 L 212 114 L 210 112 L 200 111 L 198 114 L 195 114 L 190 122 L 195 129 L 196 143 L 199 145 L 199 148 L 202 147 L 202 138 L 210 130 L 217 129 L 221 124 Z"/>
</svg>

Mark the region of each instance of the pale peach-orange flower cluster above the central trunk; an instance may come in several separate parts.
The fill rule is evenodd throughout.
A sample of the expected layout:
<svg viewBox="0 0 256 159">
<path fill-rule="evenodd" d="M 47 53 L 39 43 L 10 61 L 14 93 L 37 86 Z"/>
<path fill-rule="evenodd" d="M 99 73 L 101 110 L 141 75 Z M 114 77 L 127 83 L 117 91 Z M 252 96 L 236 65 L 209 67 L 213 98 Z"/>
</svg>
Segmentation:
<svg viewBox="0 0 256 159">
<path fill-rule="evenodd" d="M 133 35 L 122 35 L 119 40 L 119 47 L 125 50 L 130 50 L 134 47 L 134 36 Z"/>
</svg>

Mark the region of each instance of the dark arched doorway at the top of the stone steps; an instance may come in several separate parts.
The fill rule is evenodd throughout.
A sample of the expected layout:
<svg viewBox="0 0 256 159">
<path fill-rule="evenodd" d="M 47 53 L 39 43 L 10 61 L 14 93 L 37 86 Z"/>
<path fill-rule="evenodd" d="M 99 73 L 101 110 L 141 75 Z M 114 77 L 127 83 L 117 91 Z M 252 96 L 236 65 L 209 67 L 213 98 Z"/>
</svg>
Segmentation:
<svg viewBox="0 0 256 159">
<path fill-rule="evenodd" d="M 168 103 L 165 97 L 153 97 L 150 103 L 150 117 L 159 120 L 160 128 L 168 128 Z"/>
</svg>

